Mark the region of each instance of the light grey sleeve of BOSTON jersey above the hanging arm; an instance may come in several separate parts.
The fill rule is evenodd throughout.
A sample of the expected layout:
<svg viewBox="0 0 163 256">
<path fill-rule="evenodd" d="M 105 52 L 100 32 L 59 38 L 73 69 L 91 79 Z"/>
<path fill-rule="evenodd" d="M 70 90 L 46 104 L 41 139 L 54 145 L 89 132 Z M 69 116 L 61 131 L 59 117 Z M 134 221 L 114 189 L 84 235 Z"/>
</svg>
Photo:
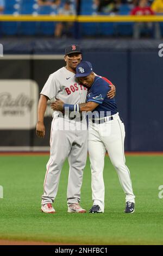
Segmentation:
<svg viewBox="0 0 163 256">
<path fill-rule="evenodd" d="M 57 95 L 57 93 L 60 90 L 60 83 L 55 77 L 55 75 L 50 75 L 47 82 L 45 83 L 45 86 L 43 86 L 41 93 L 45 96 L 47 96 L 50 100 L 53 99 Z"/>
</svg>

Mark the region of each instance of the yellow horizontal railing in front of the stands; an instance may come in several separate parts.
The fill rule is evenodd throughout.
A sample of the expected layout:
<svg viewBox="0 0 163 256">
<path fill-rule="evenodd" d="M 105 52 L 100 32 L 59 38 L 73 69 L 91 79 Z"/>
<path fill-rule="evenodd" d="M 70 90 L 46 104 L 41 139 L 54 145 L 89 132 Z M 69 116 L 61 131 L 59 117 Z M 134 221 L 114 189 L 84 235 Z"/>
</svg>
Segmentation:
<svg viewBox="0 0 163 256">
<path fill-rule="evenodd" d="M 74 22 L 74 38 L 79 38 L 81 36 L 82 30 L 79 29 L 79 25 L 84 25 L 84 23 L 96 23 L 99 24 L 110 24 L 111 23 L 125 23 L 131 24 L 134 22 L 163 22 L 163 15 L 145 15 L 145 16 L 135 16 L 135 15 L 1 15 L 0 22 Z M 107 28 L 106 28 L 107 29 Z M 105 27 L 103 28 L 105 30 Z"/>
</svg>

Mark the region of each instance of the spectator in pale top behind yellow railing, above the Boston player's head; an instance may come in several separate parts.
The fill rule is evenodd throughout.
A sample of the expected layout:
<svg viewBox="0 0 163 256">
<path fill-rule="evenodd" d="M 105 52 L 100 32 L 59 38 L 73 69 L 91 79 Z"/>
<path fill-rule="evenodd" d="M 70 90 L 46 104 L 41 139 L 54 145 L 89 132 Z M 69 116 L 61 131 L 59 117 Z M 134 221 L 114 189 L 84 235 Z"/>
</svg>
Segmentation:
<svg viewBox="0 0 163 256">
<path fill-rule="evenodd" d="M 75 15 L 76 11 L 72 8 L 70 1 L 65 1 L 64 7 L 59 10 L 59 15 Z M 73 26 L 73 22 L 58 22 L 55 26 L 54 35 L 58 38 L 65 35 L 70 35 L 70 29 Z"/>
</svg>

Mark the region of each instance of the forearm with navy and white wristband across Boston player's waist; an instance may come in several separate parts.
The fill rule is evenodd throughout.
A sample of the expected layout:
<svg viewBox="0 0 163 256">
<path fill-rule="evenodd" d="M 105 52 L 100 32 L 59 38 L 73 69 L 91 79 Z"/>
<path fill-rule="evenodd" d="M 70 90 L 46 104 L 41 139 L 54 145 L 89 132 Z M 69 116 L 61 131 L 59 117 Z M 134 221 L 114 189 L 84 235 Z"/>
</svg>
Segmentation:
<svg viewBox="0 0 163 256">
<path fill-rule="evenodd" d="M 88 112 L 88 111 L 93 111 L 93 109 L 95 109 L 98 105 L 99 105 L 98 103 L 93 101 L 72 105 L 72 104 L 65 104 L 63 101 L 57 100 L 51 104 L 51 108 L 55 111 L 63 111 L 66 108 L 69 108 L 69 111 Z"/>
</svg>

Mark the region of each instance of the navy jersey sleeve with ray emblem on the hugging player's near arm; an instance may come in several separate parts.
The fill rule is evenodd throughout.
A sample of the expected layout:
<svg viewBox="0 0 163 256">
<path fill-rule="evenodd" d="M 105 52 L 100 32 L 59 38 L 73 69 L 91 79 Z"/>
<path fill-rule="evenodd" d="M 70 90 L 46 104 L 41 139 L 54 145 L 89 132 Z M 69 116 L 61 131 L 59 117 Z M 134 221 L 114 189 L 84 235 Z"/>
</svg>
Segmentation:
<svg viewBox="0 0 163 256">
<path fill-rule="evenodd" d="M 93 101 L 98 104 L 102 104 L 109 90 L 109 83 L 104 81 L 103 78 L 99 78 L 95 82 L 92 92 L 87 94 L 87 102 Z"/>
</svg>

